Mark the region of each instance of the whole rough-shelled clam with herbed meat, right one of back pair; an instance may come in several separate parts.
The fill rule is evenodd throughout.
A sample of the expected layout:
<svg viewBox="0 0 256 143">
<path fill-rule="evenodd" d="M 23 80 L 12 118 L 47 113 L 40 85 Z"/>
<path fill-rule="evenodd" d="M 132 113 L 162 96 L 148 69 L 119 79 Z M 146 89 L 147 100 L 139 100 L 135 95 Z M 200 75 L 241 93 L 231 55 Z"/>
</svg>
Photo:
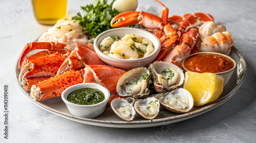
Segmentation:
<svg viewBox="0 0 256 143">
<path fill-rule="evenodd" d="M 184 82 L 183 70 L 175 64 L 157 61 L 150 64 L 149 69 L 153 74 L 154 89 L 159 93 L 176 89 Z"/>
</svg>

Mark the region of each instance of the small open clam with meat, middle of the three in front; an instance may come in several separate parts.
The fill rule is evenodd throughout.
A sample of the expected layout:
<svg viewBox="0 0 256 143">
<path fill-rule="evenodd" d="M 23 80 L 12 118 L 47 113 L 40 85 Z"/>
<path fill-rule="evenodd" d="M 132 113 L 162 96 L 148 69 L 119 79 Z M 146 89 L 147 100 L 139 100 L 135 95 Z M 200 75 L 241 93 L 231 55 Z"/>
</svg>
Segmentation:
<svg viewBox="0 0 256 143">
<path fill-rule="evenodd" d="M 139 99 L 134 103 L 136 112 L 147 120 L 158 115 L 160 103 L 156 98 Z"/>
</svg>

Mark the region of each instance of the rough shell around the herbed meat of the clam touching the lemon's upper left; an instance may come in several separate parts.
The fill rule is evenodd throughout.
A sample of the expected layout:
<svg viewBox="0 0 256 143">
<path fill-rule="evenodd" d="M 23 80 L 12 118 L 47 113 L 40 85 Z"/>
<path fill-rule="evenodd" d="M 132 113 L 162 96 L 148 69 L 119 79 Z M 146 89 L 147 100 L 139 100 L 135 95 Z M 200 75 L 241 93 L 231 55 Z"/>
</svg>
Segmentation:
<svg viewBox="0 0 256 143">
<path fill-rule="evenodd" d="M 159 71 L 163 71 L 164 69 L 167 70 L 168 68 L 174 68 L 179 73 L 179 78 L 175 84 L 164 87 L 162 85 L 162 83 L 160 83 L 158 81 L 157 75 L 159 75 L 159 73 L 158 73 Z M 185 79 L 183 70 L 181 68 L 179 68 L 177 65 L 169 63 L 169 62 L 162 62 L 162 61 L 154 62 L 150 65 L 149 69 L 151 70 L 151 72 L 153 74 L 154 89 L 159 93 L 166 91 L 166 90 L 169 91 L 169 90 L 179 88 L 183 84 L 184 79 Z"/>
</svg>

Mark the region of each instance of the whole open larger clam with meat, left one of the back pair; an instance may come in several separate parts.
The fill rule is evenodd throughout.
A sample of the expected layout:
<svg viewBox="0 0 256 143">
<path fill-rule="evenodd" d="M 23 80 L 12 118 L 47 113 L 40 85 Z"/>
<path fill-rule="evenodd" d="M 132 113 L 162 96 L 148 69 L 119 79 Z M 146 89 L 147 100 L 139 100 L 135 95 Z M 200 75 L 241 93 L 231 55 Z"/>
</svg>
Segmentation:
<svg viewBox="0 0 256 143">
<path fill-rule="evenodd" d="M 122 97 L 146 98 L 150 94 L 150 70 L 139 67 L 127 71 L 117 83 L 117 93 Z"/>
</svg>

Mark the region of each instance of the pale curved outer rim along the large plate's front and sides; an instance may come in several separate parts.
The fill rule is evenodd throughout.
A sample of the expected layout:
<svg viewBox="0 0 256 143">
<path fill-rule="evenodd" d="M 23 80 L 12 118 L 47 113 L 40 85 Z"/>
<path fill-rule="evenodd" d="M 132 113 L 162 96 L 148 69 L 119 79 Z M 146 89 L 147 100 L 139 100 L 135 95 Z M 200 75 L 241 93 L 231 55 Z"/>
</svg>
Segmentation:
<svg viewBox="0 0 256 143">
<path fill-rule="evenodd" d="M 247 75 L 247 65 L 245 62 L 244 57 L 241 55 L 241 53 L 236 49 L 236 47 L 232 46 L 232 50 L 239 56 L 240 60 L 242 61 L 242 64 L 244 66 L 241 74 L 241 80 L 237 83 L 237 85 L 228 93 L 226 96 L 224 96 L 221 99 L 217 99 L 215 102 L 210 103 L 209 105 L 202 107 L 200 109 L 197 109 L 192 112 L 188 113 L 183 113 L 175 116 L 170 116 L 170 117 L 164 117 L 164 118 L 157 118 L 153 120 L 143 120 L 143 121 L 104 121 L 104 120 L 96 120 L 96 119 L 91 119 L 91 118 L 84 118 L 84 117 L 79 117 L 76 115 L 68 114 L 62 111 L 59 111 L 57 109 L 51 108 L 43 103 L 37 102 L 33 100 L 28 92 L 22 87 L 22 85 L 19 84 L 18 81 L 18 74 L 19 69 L 17 68 L 18 65 L 18 60 L 17 63 L 15 64 L 15 76 L 16 76 L 16 82 L 19 86 L 19 88 L 23 91 L 25 96 L 32 101 L 35 105 L 39 106 L 42 109 L 45 109 L 46 111 L 49 111 L 53 114 L 56 114 L 58 116 L 67 118 L 69 120 L 83 123 L 83 124 L 88 124 L 88 125 L 94 125 L 94 126 L 101 126 L 101 127 L 113 127 L 113 128 L 144 128 L 144 127 L 155 127 L 155 126 L 161 126 L 161 125 L 168 125 L 168 124 L 173 124 L 177 122 L 181 122 L 184 120 L 187 120 L 189 118 L 198 116 L 200 114 L 203 114 L 205 112 L 208 112 L 219 105 L 225 103 L 227 100 L 229 100 L 231 97 L 234 96 L 236 92 L 240 89 L 242 86 L 243 82 L 245 81 L 246 75 Z"/>
</svg>

